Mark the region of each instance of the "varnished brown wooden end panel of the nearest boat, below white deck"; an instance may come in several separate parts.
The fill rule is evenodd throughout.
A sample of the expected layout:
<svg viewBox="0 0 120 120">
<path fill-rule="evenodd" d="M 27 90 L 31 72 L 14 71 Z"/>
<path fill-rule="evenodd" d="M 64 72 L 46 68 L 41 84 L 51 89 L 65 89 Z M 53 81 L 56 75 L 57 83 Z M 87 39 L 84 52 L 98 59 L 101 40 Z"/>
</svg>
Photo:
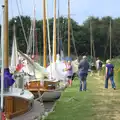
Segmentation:
<svg viewBox="0 0 120 120">
<path fill-rule="evenodd" d="M 18 97 L 5 97 L 4 111 L 8 119 L 17 117 L 29 111 L 31 104 L 29 101 Z"/>
</svg>

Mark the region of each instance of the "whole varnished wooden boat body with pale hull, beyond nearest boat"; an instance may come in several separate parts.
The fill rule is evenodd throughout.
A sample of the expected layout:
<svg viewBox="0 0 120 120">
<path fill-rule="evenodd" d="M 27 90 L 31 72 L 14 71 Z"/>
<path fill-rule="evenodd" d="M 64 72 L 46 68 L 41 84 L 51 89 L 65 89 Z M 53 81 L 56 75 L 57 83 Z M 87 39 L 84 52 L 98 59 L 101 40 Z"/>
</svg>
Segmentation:
<svg viewBox="0 0 120 120">
<path fill-rule="evenodd" d="M 40 92 L 43 101 L 54 101 L 55 99 L 58 99 L 61 96 L 62 91 L 59 87 L 59 81 L 55 80 L 31 80 L 25 88 L 32 92 L 35 96 L 38 95 L 38 92 Z"/>
</svg>

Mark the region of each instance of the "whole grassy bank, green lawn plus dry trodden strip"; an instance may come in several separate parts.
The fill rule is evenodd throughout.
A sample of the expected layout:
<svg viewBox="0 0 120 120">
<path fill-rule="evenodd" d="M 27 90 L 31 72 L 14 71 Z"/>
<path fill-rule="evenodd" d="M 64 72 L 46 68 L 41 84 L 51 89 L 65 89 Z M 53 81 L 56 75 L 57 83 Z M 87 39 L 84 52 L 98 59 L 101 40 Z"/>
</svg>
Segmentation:
<svg viewBox="0 0 120 120">
<path fill-rule="evenodd" d="M 86 92 L 79 92 L 79 80 L 76 79 L 73 86 L 63 92 L 54 112 L 45 120 L 119 120 L 119 113 L 119 87 L 113 90 L 110 86 L 106 90 L 104 78 L 95 75 L 88 77 Z"/>
</svg>

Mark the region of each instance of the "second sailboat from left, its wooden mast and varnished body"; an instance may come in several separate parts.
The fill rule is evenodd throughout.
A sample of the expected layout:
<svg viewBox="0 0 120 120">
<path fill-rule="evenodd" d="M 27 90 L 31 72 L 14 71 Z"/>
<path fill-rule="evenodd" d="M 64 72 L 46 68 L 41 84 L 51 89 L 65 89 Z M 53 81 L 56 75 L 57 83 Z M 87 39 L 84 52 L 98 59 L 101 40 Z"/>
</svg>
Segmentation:
<svg viewBox="0 0 120 120">
<path fill-rule="evenodd" d="M 56 0 L 54 1 L 56 8 Z M 46 9 L 47 1 L 43 0 L 43 38 L 44 38 L 44 68 L 46 68 Z M 54 24 L 56 22 L 56 16 L 54 18 Z M 54 26 L 54 30 L 55 30 Z M 50 44 L 49 44 L 50 45 Z M 50 50 L 49 50 L 50 51 Z M 50 73 L 51 74 L 51 73 Z M 51 78 L 34 78 L 30 79 L 29 83 L 26 84 L 26 89 L 31 91 L 33 94 L 38 94 L 38 91 L 42 94 L 43 101 L 51 101 L 60 97 L 61 89 L 59 87 L 59 81 Z"/>
</svg>

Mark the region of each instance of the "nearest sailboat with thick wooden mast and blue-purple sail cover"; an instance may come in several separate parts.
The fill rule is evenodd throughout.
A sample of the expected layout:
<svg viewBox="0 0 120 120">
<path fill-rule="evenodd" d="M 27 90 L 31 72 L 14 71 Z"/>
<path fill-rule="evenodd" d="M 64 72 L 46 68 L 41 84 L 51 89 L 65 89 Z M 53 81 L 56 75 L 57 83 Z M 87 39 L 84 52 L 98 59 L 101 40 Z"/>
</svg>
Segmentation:
<svg viewBox="0 0 120 120">
<path fill-rule="evenodd" d="M 15 80 L 10 73 L 8 66 L 8 0 L 4 0 L 3 19 L 1 24 L 1 48 L 2 48 L 2 71 L 1 71 L 1 112 L 5 113 L 7 119 L 16 119 L 28 111 L 32 110 L 35 104 L 41 108 L 40 104 L 34 102 L 34 95 L 28 90 L 13 87 Z M 31 113 L 29 112 L 29 115 Z M 39 114 L 37 114 L 39 116 Z M 31 116 L 31 117 L 34 117 Z M 20 117 L 21 118 L 21 117 Z"/>
</svg>

